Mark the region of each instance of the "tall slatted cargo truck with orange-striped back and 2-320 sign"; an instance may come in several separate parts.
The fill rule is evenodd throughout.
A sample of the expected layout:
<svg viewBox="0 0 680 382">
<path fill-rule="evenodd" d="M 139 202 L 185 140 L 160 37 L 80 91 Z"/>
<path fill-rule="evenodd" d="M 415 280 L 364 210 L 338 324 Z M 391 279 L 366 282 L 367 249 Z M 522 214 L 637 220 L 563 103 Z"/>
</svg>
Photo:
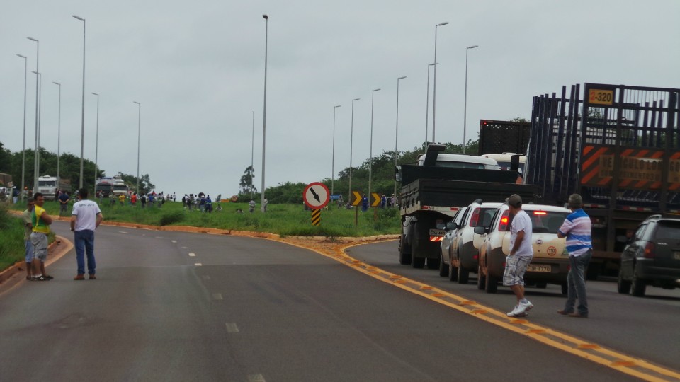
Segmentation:
<svg viewBox="0 0 680 382">
<path fill-rule="evenodd" d="M 593 224 L 588 279 L 618 273 L 652 214 L 680 214 L 677 88 L 584 83 L 533 97 L 524 182 L 543 204 L 582 196 Z"/>
</svg>

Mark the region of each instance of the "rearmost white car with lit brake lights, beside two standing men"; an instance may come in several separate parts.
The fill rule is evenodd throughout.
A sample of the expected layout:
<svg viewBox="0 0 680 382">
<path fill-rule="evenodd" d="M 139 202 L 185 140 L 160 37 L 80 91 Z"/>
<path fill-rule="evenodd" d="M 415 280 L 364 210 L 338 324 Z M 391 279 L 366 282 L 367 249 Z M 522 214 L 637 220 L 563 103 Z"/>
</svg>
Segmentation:
<svg viewBox="0 0 680 382">
<path fill-rule="evenodd" d="M 565 239 L 557 238 L 557 231 L 570 210 L 543 204 L 523 204 L 522 209 L 531 217 L 533 225 L 533 259 L 524 274 L 524 282 L 539 288 L 545 288 L 549 283 L 559 284 L 562 294 L 567 294 L 569 254 L 565 250 Z M 503 279 L 505 260 L 510 253 L 511 219 L 508 205 L 502 204 L 488 228 L 475 228 L 475 233 L 483 237 L 477 288 L 487 293 L 496 293 L 498 282 Z"/>
</svg>

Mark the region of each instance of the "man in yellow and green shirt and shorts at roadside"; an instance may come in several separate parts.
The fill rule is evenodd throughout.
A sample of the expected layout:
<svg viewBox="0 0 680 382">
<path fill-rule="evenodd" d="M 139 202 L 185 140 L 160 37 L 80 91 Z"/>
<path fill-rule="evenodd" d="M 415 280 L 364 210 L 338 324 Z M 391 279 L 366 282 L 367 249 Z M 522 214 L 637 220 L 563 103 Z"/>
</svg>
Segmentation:
<svg viewBox="0 0 680 382">
<path fill-rule="evenodd" d="M 33 226 L 33 232 L 30 233 L 30 243 L 33 245 L 33 259 L 31 259 L 33 276 L 30 279 L 48 281 L 52 279 L 52 276 L 45 273 L 45 260 L 47 260 L 47 234 L 50 233 L 52 217 L 42 208 L 45 204 L 45 196 L 40 192 L 35 192 L 34 195 L 35 206 L 33 212 L 30 213 L 30 224 Z"/>
</svg>

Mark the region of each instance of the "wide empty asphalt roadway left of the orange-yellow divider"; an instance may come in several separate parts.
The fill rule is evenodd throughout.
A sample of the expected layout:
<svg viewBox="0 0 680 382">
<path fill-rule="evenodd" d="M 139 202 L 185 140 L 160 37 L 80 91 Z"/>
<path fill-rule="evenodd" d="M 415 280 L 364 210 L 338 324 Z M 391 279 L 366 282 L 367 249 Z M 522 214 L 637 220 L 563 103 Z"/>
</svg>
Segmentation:
<svg viewBox="0 0 680 382">
<path fill-rule="evenodd" d="M 0 296 L 1 380 L 633 380 L 283 243 L 101 226 L 96 250 L 97 280 L 72 251 Z"/>
</svg>

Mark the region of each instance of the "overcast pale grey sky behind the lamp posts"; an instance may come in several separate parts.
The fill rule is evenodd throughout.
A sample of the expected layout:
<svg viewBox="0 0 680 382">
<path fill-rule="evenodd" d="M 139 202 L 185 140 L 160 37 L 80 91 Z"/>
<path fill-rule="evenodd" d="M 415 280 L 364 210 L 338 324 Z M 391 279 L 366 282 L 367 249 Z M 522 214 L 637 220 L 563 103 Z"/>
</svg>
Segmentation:
<svg viewBox="0 0 680 382">
<path fill-rule="evenodd" d="M 475 140 L 564 85 L 680 88 L 679 16 L 677 0 L 6 0 L 0 141 L 23 147 L 22 54 L 35 145 L 33 37 L 40 146 L 80 156 L 85 35 L 83 150 L 106 175 L 137 175 L 139 132 L 157 192 L 236 195 L 251 163 L 261 190 L 266 132 L 265 186 L 312 183 L 432 141 L 435 35 L 435 140 L 462 144 L 464 120 Z"/>
</svg>

